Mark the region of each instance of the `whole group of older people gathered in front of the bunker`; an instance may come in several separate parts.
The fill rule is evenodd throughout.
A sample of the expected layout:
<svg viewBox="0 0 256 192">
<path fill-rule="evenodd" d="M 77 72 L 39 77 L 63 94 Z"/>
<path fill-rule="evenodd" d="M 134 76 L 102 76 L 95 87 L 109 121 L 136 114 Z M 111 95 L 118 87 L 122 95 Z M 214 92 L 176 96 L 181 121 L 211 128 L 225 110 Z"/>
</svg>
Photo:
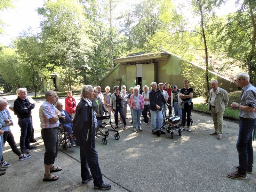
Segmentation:
<svg viewBox="0 0 256 192">
<path fill-rule="evenodd" d="M 239 165 L 235 166 L 236 172 L 229 173 L 227 176 L 232 179 L 246 179 L 246 173 L 252 174 L 253 164 L 253 149 L 252 149 L 252 131 L 256 125 L 256 88 L 249 83 L 249 76 L 246 73 L 241 73 L 236 76 L 236 83 L 241 87 L 243 92 L 241 102 L 233 102 L 231 107 L 239 109 L 240 123 L 239 134 L 236 143 L 238 151 Z M 131 87 L 130 94 L 126 92 L 126 87 L 122 87 L 119 91 L 119 86 L 114 86 L 114 93 L 111 94 L 110 88 L 105 88 L 105 93 L 101 93 L 100 86 L 93 89 L 91 85 L 84 85 L 81 90 L 82 98 L 76 106 L 75 99 L 72 97 L 72 92 L 68 93 L 68 105 L 70 109 L 63 112 L 63 105 L 58 102 L 58 96 L 55 91 L 47 91 L 45 93 L 45 101 L 40 106 L 39 117 L 41 122 L 41 135 L 44 140 L 44 178 L 43 181 L 53 181 L 59 179 L 52 172 L 61 171 L 61 167 L 54 166 L 54 160 L 58 154 L 58 131 L 57 128 L 61 120 L 66 126 L 70 125 L 70 140 L 76 140 L 76 145 L 80 146 L 81 157 L 81 177 L 82 182 L 86 183 L 93 179 L 94 188 L 106 190 L 111 188 L 111 185 L 102 180 L 98 162 L 98 153 L 95 148 L 95 138 L 97 135 L 98 121 L 96 116 L 104 112 L 114 113 L 116 128 L 118 128 L 118 114 L 124 123 L 124 129 L 127 128 L 126 116 L 124 115 L 124 102 L 127 102 L 132 112 L 133 131 L 142 130 L 141 114 L 144 112 L 145 124 L 148 124 L 148 113 L 151 117 L 152 133 L 156 134 L 156 129 L 163 125 L 163 118 L 166 114 L 166 108 L 174 109 L 176 116 L 182 119 L 182 128 L 185 128 L 187 116 L 187 131 L 191 132 L 190 114 L 193 108 L 192 97 L 193 88 L 189 87 L 188 79 L 183 81 L 184 88 L 178 89 L 176 85 L 172 85 L 172 90 L 168 83 L 159 83 L 158 88 L 156 82 L 150 84 L 151 91 L 148 86 L 143 87 L 144 92 L 141 92 L 140 87 Z M 165 86 L 165 88 L 163 88 Z M 228 93 L 219 87 L 217 80 L 211 81 L 212 89 L 209 92 L 209 110 L 212 114 L 215 131 L 210 135 L 217 135 L 217 139 L 222 139 L 223 134 L 223 113 L 228 105 Z M 124 88 L 124 89 L 123 89 Z M 170 90 L 169 90 L 170 89 Z M 124 91 L 123 91 L 124 90 Z M 35 107 L 27 99 L 27 91 L 22 88 L 17 90 L 18 98 L 14 101 L 14 112 L 19 118 L 21 128 L 20 148 L 17 149 L 16 143 L 10 130 L 12 119 L 8 110 L 6 110 L 7 101 L 0 98 L 0 157 L 3 155 L 4 138 L 7 142 L 12 143 L 12 150 L 19 156 L 20 160 L 30 158 L 26 155 L 27 150 L 36 147 L 29 144 L 32 134 L 31 110 Z M 127 96 L 126 96 L 127 95 Z M 171 98 L 171 99 L 169 99 Z M 66 104 L 65 99 L 65 104 Z M 54 106 L 57 107 L 55 107 Z M 181 110 L 180 110 L 181 109 Z M 75 114 L 75 115 L 74 115 Z M 164 114 L 164 115 L 163 115 Z M 73 118 L 73 116 L 74 118 Z M 73 124 L 72 124 L 73 123 Z M 3 129 L 4 128 L 4 129 Z M 68 128 L 67 128 L 68 129 Z M 4 135 L 8 132 L 7 136 Z M 164 131 L 161 129 L 161 133 Z M 3 137 L 4 136 L 4 137 Z M 9 139 L 8 139 L 9 138 Z M 2 161 L 1 161 L 2 165 Z M 2 167 L 2 166 L 1 166 Z M 90 168 L 90 171 L 89 171 Z M 1 168 L 1 173 L 5 172 Z M 91 172 L 91 174 L 90 174 Z"/>
</svg>

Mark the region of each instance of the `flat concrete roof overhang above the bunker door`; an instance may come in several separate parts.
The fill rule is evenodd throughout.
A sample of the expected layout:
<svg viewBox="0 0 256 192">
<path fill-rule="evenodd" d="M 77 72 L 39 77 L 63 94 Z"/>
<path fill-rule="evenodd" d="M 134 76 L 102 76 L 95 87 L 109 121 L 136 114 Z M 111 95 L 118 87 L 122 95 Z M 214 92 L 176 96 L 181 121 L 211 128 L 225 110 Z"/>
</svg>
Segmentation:
<svg viewBox="0 0 256 192">
<path fill-rule="evenodd" d="M 160 52 L 139 52 L 132 53 L 123 58 L 114 59 L 115 63 L 120 65 L 127 64 L 129 62 L 143 62 L 145 60 L 166 60 L 169 58 L 171 53 L 161 50 Z"/>
</svg>

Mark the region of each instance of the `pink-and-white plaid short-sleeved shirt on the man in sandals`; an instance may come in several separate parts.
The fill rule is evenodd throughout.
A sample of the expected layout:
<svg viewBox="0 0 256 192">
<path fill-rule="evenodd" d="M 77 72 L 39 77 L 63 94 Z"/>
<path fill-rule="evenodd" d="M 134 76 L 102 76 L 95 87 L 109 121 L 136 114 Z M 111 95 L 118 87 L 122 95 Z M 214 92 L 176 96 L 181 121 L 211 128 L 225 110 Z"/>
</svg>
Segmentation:
<svg viewBox="0 0 256 192">
<path fill-rule="evenodd" d="M 56 123 L 53 123 L 51 120 L 49 120 L 52 117 L 55 117 L 56 108 L 54 105 L 49 103 L 48 101 L 44 101 L 44 103 L 39 108 L 39 118 L 41 122 L 41 129 L 48 129 L 53 127 L 58 127 L 60 124 L 60 121 L 58 120 Z"/>
</svg>

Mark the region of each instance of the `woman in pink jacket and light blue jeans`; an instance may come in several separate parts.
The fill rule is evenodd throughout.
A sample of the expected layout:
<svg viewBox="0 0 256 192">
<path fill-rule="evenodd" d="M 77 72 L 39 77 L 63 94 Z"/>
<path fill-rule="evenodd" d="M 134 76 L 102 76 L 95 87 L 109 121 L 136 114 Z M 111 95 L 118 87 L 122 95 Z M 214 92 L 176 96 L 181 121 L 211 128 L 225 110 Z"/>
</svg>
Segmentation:
<svg viewBox="0 0 256 192">
<path fill-rule="evenodd" d="M 134 94 L 131 95 L 129 99 L 129 106 L 132 110 L 133 131 L 135 132 L 137 131 L 137 126 L 138 126 L 138 129 L 142 131 L 140 117 L 141 117 L 142 110 L 144 109 L 145 101 L 142 95 L 140 95 L 139 93 L 139 87 L 137 86 L 134 87 L 133 91 L 134 91 Z"/>
</svg>

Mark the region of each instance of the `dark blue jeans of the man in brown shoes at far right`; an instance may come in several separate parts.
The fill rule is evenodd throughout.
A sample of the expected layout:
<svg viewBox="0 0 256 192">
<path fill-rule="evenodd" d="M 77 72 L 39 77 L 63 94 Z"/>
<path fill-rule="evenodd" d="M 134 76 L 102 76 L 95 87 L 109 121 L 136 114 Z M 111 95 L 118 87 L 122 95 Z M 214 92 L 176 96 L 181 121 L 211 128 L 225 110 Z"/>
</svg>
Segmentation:
<svg viewBox="0 0 256 192">
<path fill-rule="evenodd" d="M 238 172 L 246 175 L 247 170 L 252 170 L 253 148 L 252 148 L 252 131 L 256 125 L 256 119 L 246 119 L 240 117 L 238 140 L 236 149 L 238 152 L 239 166 Z"/>
</svg>

